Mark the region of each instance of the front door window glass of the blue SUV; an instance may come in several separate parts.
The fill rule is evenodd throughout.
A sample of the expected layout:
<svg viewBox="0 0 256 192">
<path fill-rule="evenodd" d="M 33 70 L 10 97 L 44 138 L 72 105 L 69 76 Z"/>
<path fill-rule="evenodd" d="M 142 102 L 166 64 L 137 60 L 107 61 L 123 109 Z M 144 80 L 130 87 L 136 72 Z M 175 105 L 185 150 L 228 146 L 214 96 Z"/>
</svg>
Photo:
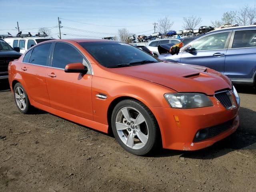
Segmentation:
<svg viewBox="0 0 256 192">
<path fill-rule="evenodd" d="M 216 33 L 200 38 L 191 47 L 195 51 L 224 49 L 229 32 Z"/>
</svg>

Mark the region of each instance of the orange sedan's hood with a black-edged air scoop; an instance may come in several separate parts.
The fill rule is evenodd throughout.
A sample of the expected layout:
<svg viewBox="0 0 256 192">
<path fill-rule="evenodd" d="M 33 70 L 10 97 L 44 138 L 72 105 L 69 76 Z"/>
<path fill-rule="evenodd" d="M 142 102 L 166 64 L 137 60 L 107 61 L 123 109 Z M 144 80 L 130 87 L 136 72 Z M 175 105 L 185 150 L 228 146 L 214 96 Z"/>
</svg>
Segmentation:
<svg viewBox="0 0 256 192">
<path fill-rule="evenodd" d="M 158 62 L 111 70 L 118 74 L 148 80 L 177 92 L 201 92 L 214 95 L 218 90 L 231 89 L 231 81 L 226 76 L 202 66 Z"/>
</svg>

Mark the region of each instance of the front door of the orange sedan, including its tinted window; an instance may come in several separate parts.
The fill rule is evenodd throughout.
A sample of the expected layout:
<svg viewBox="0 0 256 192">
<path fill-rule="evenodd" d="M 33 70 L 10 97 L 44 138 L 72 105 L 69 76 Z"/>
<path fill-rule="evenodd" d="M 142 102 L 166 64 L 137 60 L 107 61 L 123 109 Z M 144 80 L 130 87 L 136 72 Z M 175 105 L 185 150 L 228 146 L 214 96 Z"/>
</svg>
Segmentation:
<svg viewBox="0 0 256 192">
<path fill-rule="evenodd" d="M 87 74 L 66 73 L 70 63 L 82 63 Z M 52 55 L 52 67 L 46 72 L 46 84 L 52 108 L 92 120 L 92 74 L 88 62 L 74 46 L 57 42 Z"/>
</svg>

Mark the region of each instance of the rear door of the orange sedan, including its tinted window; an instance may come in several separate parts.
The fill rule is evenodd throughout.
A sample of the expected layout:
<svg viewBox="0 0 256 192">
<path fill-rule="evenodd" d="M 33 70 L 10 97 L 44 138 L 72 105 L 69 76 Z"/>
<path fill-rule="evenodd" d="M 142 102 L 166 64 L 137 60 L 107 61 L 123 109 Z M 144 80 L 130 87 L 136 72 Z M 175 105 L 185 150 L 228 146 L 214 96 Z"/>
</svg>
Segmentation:
<svg viewBox="0 0 256 192">
<path fill-rule="evenodd" d="M 28 96 L 39 104 L 50 106 L 46 88 L 46 69 L 52 43 L 45 43 L 28 51 L 22 61 L 22 79 Z"/>
</svg>

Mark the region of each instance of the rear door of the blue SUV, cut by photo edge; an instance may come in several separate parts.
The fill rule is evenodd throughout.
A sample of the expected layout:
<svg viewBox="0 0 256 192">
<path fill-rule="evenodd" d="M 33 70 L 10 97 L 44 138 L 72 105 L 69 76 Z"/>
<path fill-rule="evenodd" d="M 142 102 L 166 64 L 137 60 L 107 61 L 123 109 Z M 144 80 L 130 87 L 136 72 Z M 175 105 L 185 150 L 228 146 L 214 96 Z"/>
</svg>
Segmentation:
<svg viewBox="0 0 256 192">
<path fill-rule="evenodd" d="M 245 80 L 245 78 L 251 79 L 255 71 L 256 29 L 236 30 L 232 34 L 227 50 L 224 74 L 229 78 Z M 247 80 L 246 82 L 251 84 L 253 83 L 253 79 Z"/>
</svg>

